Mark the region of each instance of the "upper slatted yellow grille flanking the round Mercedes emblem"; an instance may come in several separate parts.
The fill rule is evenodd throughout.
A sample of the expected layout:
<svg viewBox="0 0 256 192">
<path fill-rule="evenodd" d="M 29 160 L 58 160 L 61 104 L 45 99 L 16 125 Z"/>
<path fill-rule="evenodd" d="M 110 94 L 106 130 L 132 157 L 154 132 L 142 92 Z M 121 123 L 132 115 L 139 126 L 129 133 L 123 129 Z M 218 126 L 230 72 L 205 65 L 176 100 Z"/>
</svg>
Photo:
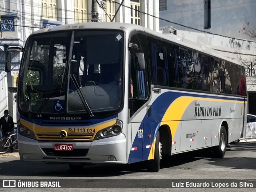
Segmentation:
<svg viewBox="0 0 256 192">
<path fill-rule="evenodd" d="M 39 140 L 90 140 L 93 133 L 68 133 L 67 138 L 62 139 L 59 133 L 37 133 Z"/>
</svg>

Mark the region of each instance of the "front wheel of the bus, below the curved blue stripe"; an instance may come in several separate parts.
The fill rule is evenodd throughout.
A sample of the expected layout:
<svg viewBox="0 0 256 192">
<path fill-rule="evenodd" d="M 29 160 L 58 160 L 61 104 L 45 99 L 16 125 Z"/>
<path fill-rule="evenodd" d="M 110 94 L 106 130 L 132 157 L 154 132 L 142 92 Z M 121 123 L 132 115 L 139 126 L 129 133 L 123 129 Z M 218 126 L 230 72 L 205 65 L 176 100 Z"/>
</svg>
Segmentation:
<svg viewBox="0 0 256 192">
<path fill-rule="evenodd" d="M 162 144 L 160 142 L 159 131 L 156 134 L 156 146 L 154 150 L 154 159 L 148 160 L 147 169 L 149 172 L 158 172 L 160 169 L 160 160 L 162 159 Z"/>
</svg>

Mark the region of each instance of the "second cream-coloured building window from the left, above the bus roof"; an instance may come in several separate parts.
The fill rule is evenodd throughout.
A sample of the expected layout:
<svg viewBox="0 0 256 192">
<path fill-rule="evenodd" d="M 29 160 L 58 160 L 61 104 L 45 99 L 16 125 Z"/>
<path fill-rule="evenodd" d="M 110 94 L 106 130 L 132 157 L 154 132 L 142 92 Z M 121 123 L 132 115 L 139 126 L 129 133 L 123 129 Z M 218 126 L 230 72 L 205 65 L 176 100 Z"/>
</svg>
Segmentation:
<svg viewBox="0 0 256 192">
<path fill-rule="evenodd" d="M 75 22 L 87 22 L 87 0 L 74 0 Z"/>
</svg>

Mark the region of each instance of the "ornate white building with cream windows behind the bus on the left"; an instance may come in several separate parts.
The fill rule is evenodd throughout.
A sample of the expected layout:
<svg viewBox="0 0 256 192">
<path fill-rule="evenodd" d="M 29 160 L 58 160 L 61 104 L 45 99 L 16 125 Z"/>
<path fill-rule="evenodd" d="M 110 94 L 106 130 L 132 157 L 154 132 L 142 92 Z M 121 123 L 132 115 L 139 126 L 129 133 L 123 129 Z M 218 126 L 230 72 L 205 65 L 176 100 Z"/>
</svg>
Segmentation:
<svg viewBox="0 0 256 192">
<path fill-rule="evenodd" d="M 120 5 L 122 4 L 122 5 Z M 93 11 L 93 14 L 92 14 Z M 146 13 L 146 14 L 144 14 Z M 6 108 L 16 120 L 16 87 L 22 54 L 12 52 L 10 74 L 5 72 L 5 47 L 24 47 L 40 28 L 81 22 L 123 22 L 159 30 L 158 0 L 3 0 L 0 1 L 0 114 Z"/>
</svg>

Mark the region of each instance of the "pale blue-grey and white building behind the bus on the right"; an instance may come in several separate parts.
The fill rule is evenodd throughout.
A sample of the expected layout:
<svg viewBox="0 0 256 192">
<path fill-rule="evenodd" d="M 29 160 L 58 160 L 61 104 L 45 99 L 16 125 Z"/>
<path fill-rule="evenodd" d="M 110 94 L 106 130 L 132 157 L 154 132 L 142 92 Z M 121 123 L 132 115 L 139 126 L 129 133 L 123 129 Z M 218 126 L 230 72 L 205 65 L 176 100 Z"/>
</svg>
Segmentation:
<svg viewBox="0 0 256 192">
<path fill-rule="evenodd" d="M 210 5 L 208 10 L 206 3 Z M 160 18 L 171 21 L 160 20 L 162 32 L 168 33 L 175 30 L 180 38 L 212 48 L 216 53 L 245 66 L 248 113 L 256 114 L 254 102 L 256 100 L 256 38 L 243 33 L 243 28 L 247 27 L 246 22 L 249 22 L 250 26 L 256 26 L 254 19 L 256 1 L 159 0 L 159 5 Z M 207 11 L 210 12 L 208 17 L 206 17 Z M 207 26 L 206 21 L 209 20 L 210 23 Z M 174 22 L 181 25 L 174 24 Z"/>
</svg>

